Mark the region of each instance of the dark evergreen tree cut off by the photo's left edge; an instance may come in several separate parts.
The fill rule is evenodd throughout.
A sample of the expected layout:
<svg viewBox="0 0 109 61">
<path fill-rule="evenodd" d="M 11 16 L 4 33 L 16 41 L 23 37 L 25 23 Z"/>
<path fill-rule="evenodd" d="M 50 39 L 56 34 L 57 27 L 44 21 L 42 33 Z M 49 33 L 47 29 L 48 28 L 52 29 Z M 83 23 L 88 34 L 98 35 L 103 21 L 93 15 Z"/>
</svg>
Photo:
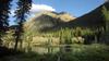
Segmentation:
<svg viewBox="0 0 109 61">
<path fill-rule="evenodd" d="M 0 44 L 2 44 L 1 36 L 9 26 L 9 13 L 12 0 L 0 0 Z"/>
</svg>

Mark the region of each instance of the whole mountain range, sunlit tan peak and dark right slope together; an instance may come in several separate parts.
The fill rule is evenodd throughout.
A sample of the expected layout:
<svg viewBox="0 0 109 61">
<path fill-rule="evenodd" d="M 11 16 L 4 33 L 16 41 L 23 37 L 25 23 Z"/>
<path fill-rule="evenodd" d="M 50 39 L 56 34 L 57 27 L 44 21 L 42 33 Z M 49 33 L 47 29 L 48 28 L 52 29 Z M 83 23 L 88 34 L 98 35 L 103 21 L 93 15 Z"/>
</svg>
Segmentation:
<svg viewBox="0 0 109 61">
<path fill-rule="evenodd" d="M 38 12 L 25 23 L 25 28 L 31 32 L 49 32 L 61 27 L 88 27 L 96 28 L 104 25 L 102 7 L 109 10 L 109 2 L 105 2 L 89 13 L 74 17 L 66 12 Z"/>
</svg>

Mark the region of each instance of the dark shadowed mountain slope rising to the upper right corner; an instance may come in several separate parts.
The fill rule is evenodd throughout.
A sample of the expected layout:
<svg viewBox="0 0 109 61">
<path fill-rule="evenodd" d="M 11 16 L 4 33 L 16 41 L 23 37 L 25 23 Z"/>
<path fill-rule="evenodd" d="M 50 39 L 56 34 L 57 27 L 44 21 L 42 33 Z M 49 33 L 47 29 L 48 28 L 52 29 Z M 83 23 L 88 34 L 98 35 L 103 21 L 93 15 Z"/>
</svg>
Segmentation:
<svg viewBox="0 0 109 61">
<path fill-rule="evenodd" d="M 109 10 L 109 2 L 106 2 L 92 12 L 69 22 L 68 26 L 95 27 L 101 25 L 104 23 L 101 12 L 104 5 Z"/>
</svg>

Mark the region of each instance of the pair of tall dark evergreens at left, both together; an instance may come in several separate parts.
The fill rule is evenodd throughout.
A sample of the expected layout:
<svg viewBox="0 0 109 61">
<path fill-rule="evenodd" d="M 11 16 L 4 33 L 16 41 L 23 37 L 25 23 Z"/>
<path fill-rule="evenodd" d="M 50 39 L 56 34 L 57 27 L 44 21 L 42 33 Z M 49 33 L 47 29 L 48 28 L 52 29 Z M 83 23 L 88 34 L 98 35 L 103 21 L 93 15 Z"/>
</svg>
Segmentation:
<svg viewBox="0 0 109 61">
<path fill-rule="evenodd" d="M 2 46 L 2 36 L 9 29 L 9 15 L 11 13 L 12 2 L 13 0 L 0 0 L 0 46 Z M 15 46 L 14 50 L 17 49 L 17 42 L 22 42 L 22 34 L 23 34 L 23 23 L 26 21 L 27 14 L 32 8 L 32 0 L 17 0 L 17 7 L 15 10 L 16 17 L 15 22 L 17 27 L 15 28 L 14 37 L 15 37 Z"/>
</svg>

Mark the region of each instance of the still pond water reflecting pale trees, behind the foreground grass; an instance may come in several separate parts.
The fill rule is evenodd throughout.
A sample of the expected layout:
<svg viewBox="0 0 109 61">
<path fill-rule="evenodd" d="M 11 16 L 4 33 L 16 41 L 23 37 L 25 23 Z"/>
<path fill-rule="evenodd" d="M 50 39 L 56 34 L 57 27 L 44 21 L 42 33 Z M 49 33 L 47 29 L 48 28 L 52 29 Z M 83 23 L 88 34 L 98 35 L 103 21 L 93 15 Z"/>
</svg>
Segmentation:
<svg viewBox="0 0 109 61">
<path fill-rule="evenodd" d="M 37 53 L 56 53 L 56 52 L 70 52 L 72 50 L 72 46 L 33 46 L 31 51 L 35 51 Z"/>
</svg>

